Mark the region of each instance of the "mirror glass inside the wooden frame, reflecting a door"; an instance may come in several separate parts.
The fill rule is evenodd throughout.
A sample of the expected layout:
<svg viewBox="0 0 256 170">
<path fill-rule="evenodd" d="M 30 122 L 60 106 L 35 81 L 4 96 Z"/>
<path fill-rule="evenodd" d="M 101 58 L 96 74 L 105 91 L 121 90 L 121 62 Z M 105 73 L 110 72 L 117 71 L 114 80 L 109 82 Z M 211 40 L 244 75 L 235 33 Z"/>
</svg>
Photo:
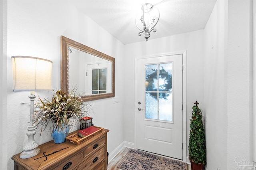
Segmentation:
<svg viewBox="0 0 256 170">
<path fill-rule="evenodd" d="M 69 56 L 69 91 L 80 95 L 111 93 L 111 62 L 72 47 Z"/>
</svg>

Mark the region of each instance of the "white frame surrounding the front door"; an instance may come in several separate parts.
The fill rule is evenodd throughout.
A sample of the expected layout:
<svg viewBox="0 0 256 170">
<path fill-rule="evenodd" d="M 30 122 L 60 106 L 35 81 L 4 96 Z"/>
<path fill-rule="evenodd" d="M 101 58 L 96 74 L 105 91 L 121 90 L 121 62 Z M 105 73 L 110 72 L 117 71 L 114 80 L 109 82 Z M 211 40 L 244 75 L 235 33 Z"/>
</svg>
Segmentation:
<svg viewBox="0 0 256 170">
<path fill-rule="evenodd" d="M 182 54 L 183 59 L 183 93 L 182 93 L 182 101 L 183 101 L 183 111 L 182 111 L 182 142 L 183 142 L 183 152 L 182 152 L 182 161 L 187 162 L 187 51 L 176 51 L 170 53 L 161 53 L 155 55 L 146 55 L 142 57 L 134 58 L 134 148 L 137 148 L 137 60 L 145 59 L 151 57 L 162 57 L 166 55 L 178 55 Z"/>
</svg>

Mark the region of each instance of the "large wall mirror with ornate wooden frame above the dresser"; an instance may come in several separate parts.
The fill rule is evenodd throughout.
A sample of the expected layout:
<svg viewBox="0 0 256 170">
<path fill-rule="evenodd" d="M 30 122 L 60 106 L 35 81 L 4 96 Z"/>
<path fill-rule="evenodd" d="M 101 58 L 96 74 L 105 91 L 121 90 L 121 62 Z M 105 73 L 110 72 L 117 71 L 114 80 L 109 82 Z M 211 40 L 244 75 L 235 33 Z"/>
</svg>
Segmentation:
<svg viewBox="0 0 256 170">
<path fill-rule="evenodd" d="M 61 90 L 76 89 L 83 101 L 115 96 L 115 59 L 61 36 Z"/>
</svg>

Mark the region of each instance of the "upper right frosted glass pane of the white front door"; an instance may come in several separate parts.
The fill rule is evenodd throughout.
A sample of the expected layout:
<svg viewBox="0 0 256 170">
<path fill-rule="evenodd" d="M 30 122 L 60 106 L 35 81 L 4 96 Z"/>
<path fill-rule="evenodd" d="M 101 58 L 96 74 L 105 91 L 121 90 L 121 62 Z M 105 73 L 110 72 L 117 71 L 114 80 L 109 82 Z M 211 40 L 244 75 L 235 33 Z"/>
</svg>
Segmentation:
<svg viewBox="0 0 256 170">
<path fill-rule="evenodd" d="M 172 63 L 159 64 L 159 91 L 172 91 Z"/>
</svg>

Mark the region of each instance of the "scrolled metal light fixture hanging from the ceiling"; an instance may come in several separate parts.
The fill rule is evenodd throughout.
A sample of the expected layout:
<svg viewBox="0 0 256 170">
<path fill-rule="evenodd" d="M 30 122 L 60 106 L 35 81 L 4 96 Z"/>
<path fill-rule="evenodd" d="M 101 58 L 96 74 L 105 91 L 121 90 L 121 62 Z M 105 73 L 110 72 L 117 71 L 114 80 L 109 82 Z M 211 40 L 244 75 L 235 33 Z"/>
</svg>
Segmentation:
<svg viewBox="0 0 256 170">
<path fill-rule="evenodd" d="M 138 36 L 141 36 L 143 33 L 145 35 L 146 41 L 150 38 L 150 32 L 156 32 L 156 24 L 158 23 L 160 13 L 158 8 L 154 7 L 152 4 L 144 4 L 142 6 L 142 12 L 139 13 L 136 17 L 136 26 L 141 31 L 138 33 Z M 140 16 L 140 19 L 139 17 Z M 141 22 L 142 25 L 138 26 L 138 23 Z"/>
</svg>

